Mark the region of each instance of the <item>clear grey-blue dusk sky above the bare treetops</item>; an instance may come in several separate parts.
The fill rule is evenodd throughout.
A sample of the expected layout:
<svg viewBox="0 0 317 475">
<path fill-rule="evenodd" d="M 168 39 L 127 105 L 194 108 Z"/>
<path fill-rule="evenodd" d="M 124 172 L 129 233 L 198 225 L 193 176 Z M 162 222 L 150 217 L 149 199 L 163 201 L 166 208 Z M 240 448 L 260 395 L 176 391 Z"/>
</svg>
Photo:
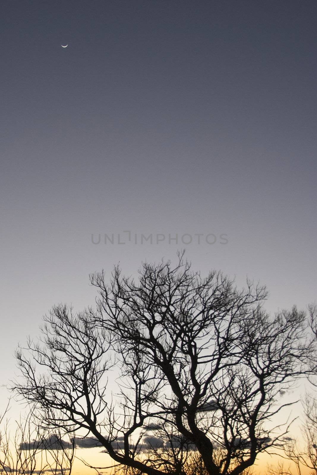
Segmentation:
<svg viewBox="0 0 317 475">
<path fill-rule="evenodd" d="M 316 300 L 316 20 L 316 1 L 1 1 L 0 385 L 118 261 L 185 247 L 266 284 L 273 313 Z"/>
</svg>

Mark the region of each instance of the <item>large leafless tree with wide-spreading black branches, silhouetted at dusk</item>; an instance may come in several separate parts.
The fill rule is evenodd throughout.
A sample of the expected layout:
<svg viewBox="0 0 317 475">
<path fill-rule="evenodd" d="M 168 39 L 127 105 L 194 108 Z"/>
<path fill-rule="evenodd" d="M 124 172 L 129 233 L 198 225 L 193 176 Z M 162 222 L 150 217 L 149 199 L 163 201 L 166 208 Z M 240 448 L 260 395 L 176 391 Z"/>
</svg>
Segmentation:
<svg viewBox="0 0 317 475">
<path fill-rule="evenodd" d="M 162 450 L 148 456 L 149 427 L 165 449 L 162 427 L 192 446 L 209 475 L 238 475 L 283 447 L 288 426 L 271 421 L 288 406 L 280 391 L 310 371 L 305 312 L 271 317 L 265 287 L 238 290 L 215 271 L 202 278 L 182 253 L 174 267 L 143 263 L 138 281 L 118 267 L 110 284 L 104 272 L 90 281 L 96 310 L 53 307 L 31 357 L 17 352 L 25 380 L 16 390 L 49 428 L 86 431 L 114 466 L 148 475 L 183 470 L 177 454 L 171 465 Z"/>
</svg>

